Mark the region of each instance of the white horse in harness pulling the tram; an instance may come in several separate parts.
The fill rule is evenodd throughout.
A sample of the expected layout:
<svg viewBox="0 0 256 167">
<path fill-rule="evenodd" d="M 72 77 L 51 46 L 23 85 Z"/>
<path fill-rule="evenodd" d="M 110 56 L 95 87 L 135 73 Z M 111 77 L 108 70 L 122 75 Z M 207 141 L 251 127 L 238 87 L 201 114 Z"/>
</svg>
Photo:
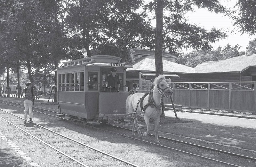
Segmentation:
<svg viewBox="0 0 256 167">
<path fill-rule="evenodd" d="M 153 118 L 155 120 L 155 142 L 160 144 L 158 140 L 158 124 L 160 122 L 160 115 L 162 112 L 162 95 L 171 97 L 173 91 L 169 87 L 163 75 L 156 77 L 153 85 L 155 85 L 154 89 L 152 89 L 148 95 L 139 92 L 128 96 L 126 99 L 126 114 L 135 112 L 133 115 L 132 137 L 135 136 L 134 129 L 136 126 L 139 139 L 142 139 L 142 135 L 148 136 L 148 132 L 151 130 L 149 119 Z M 143 96 L 145 96 L 144 99 L 142 98 Z M 142 105 L 140 103 L 142 103 Z M 139 117 L 144 117 L 147 124 L 147 132 L 142 134 L 138 126 L 137 118 Z"/>
</svg>

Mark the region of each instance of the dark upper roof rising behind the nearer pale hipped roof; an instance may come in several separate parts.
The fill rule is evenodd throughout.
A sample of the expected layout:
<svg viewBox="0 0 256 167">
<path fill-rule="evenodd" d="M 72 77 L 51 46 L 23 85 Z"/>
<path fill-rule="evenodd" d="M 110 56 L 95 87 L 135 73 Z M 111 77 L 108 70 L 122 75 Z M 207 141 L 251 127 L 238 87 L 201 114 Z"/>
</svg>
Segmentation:
<svg viewBox="0 0 256 167">
<path fill-rule="evenodd" d="M 135 59 L 134 62 L 137 63 L 145 58 L 155 59 L 155 51 L 146 50 L 146 49 L 133 49 L 134 52 L 132 53 L 133 58 Z M 163 60 L 168 60 L 172 62 L 176 62 L 176 57 L 178 54 L 172 54 L 169 52 L 162 53 Z"/>
</svg>

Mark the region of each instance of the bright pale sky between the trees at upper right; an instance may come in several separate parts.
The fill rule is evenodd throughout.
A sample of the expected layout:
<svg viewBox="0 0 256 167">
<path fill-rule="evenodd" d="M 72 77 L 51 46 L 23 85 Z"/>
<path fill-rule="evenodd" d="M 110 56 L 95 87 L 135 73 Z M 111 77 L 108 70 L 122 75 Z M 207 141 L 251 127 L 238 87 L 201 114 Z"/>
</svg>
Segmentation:
<svg viewBox="0 0 256 167">
<path fill-rule="evenodd" d="M 220 2 L 226 7 L 234 7 L 236 4 L 236 0 L 230 0 L 229 2 L 221 0 Z M 239 46 L 242 46 L 239 51 L 246 51 L 245 47 L 248 46 L 249 41 L 256 38 L 256 36 L 249 36 L 248 34 L 241 35 L 241 32 L 235 30 L 236 27 L 233 26 L 232 19 L 228 16 L 223 16 L 223 14 L 211 13 L 206 9 L 197 9 L 195 12 L 187 13 L 187 17 L 191 23 L 203 26 L 207 30 L 215 27 L 224 28 L 229 31 L 227 32 L 228 37 L 212 44 L 213 49 L 217 49 L 219 46 L 224 48 L 227 44 L 230 44 L 231 46 L 238 44 Z M 235 31 L 231 32 L 232 30 Z"/>
</svg>

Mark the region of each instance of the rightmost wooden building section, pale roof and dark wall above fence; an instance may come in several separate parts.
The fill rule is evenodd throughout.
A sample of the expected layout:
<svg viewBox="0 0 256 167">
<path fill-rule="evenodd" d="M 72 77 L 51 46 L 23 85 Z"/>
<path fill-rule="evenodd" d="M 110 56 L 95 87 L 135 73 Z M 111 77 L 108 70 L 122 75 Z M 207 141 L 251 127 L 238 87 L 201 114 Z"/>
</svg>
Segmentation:
<svg viewBox="0 0 256 167">
<path fill-rule="evenodd" d="M 202 62 L 195 67 L 195 82 L 256 82 L 256 55 Z"/>
</svg>

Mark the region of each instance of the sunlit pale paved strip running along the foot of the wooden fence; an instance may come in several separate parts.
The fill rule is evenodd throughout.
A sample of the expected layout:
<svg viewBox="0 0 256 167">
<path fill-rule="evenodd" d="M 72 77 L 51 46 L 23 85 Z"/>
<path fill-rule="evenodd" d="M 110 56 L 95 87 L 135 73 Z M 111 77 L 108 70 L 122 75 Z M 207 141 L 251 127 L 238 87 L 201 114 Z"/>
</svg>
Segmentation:
<svg viewBox="0 0 256 167">
<path fill-rule="evenodd" d="M 175 117 L 173 111 L 164 111 L 166 116 Z M 236 118 L 219 115 L 207 115 L 188 112 L 177 112 L 179 118 L 194 119 L 202 123 L 212 123 L 216 125 L 240 126 L 244 128 L 256 128 L 255 119 Z"/>
</svg>

